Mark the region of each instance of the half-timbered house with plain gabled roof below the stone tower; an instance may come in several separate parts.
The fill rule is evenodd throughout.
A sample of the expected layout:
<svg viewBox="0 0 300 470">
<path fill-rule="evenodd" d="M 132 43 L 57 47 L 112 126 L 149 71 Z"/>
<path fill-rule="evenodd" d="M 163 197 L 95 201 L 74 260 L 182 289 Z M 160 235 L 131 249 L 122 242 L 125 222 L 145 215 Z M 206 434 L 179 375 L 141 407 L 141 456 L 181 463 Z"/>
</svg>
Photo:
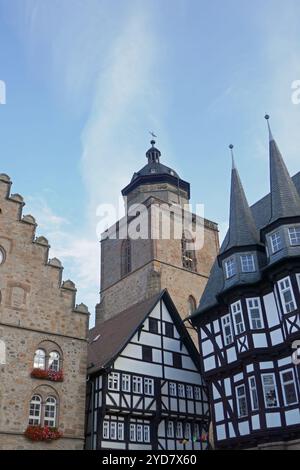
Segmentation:
<svg viewBox="0 0 300 470">
<path fill-rule="evenodd" d="M 199 353 L 167 291 L 90 331 L 86 449 L 206 449 Z"/>
</svg>

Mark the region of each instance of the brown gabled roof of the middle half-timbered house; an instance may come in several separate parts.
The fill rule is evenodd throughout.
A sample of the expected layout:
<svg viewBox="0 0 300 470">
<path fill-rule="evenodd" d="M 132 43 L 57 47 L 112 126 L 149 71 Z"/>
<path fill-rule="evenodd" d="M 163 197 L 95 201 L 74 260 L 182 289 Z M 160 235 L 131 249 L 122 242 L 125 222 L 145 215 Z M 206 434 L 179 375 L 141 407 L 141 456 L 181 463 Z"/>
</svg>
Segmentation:
<svg viewBox="0 0 300 470">
<path fill-rule="evenodd" d="M 180 333 L 187 349 L 199 367 L 199 354 L 191 340 L 186 327 L 168 293 L 165 289 L 150 299 L 139 302 L 120 312 L 118 315 L 96 325 L 89 332 L 88 344 L 88 373 L 92 374 L 108 368 L 123 351 L 131 338 L 142 326 L 156 304 L 163 300 Z"/>
</svg>

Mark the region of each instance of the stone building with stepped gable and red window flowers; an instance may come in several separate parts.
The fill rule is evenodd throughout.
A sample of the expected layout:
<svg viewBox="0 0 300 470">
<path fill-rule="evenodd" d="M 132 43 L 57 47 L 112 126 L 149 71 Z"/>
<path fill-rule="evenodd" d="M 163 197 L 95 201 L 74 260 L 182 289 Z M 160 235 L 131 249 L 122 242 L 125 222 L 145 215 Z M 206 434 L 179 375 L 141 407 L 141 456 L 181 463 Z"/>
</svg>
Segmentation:
<svg viewBox="0 0 300 470">
<path fill-rule="evenodd" d="M 89 313 L 10 188 L 0 175 L 0 450 L 82 449 Z"/>
</svg>

